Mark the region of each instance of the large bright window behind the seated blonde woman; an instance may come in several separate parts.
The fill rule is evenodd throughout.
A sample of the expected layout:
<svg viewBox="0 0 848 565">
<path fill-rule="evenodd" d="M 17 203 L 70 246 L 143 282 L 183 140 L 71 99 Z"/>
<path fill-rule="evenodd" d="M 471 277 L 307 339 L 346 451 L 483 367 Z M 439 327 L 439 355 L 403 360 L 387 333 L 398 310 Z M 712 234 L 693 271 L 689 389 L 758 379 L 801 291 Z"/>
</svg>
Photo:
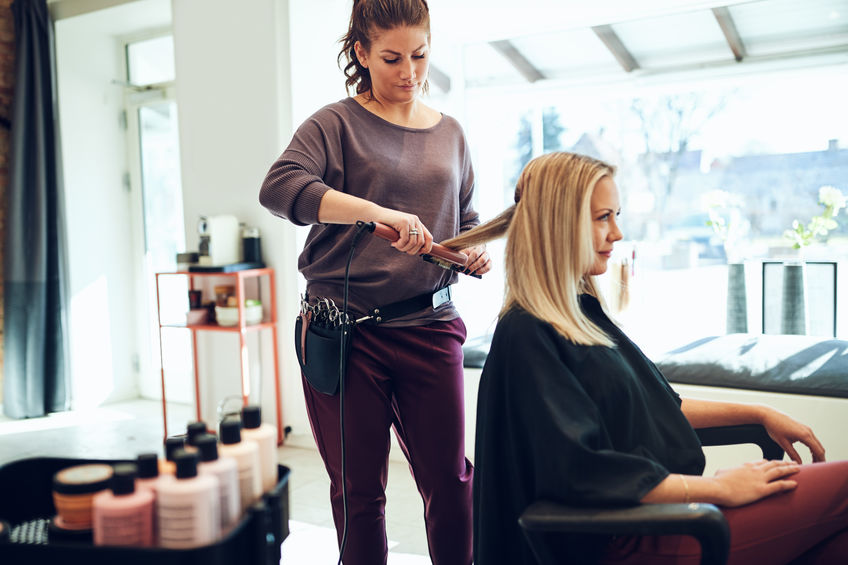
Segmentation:
<svg viewBox="0 0 848 565">
<path fill-rule="evenodd" d="M 783 233 L 793 220 L 822 211 L 820 187 L 848 194 L 848 121 L 839 118 L 847 89 L 845 73 L 786 70 L 651 87 L 584 84 L 538 95 L 471 90 L 466 124 L 478 209 L 488 219 L 512 202 L 530 153 L 562 149 L 606 160 L 618 168 L 626 238 L 614 260 L 628 261 L 635 274 L 630 304 L 619 314 L 628 333 L 657 353 L 725 333 L 728 260 L 750 263 L 749 331 L 756 333 L 756 262 L 794 253 Z M 533 143 L 534 132 L 543 143 Z M 717 198 L 730 199 L 722 212 L 738 236 L 727 245 L 708 224 Z M 845 211 L 826 241 L 808 248 L 808 258 L 848 260 Z M 615 299 L 617 280 L 604 278 Z M 469 337 L 491 331 L 503 291 L 498 282 L 473 291 L 475 282 L 462 285 Z"/>
</svg>

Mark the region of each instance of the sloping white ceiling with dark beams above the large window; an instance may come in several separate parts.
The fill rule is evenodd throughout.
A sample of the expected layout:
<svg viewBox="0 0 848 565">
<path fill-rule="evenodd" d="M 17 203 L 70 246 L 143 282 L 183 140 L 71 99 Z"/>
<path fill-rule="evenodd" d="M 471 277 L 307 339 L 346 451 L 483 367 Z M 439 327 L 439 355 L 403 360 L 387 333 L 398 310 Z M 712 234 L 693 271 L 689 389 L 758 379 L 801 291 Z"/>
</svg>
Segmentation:
<svg viewBox="0 0 848 565">
<path fill-rule="evenodd" d="M 461 50 L 471 88 L 848 64 L 848 0 L 430 0 L 430 8 L 434 41 Z M 434 65 L 452 67 L 447 51 L 434 50 Z"/>
</svg>

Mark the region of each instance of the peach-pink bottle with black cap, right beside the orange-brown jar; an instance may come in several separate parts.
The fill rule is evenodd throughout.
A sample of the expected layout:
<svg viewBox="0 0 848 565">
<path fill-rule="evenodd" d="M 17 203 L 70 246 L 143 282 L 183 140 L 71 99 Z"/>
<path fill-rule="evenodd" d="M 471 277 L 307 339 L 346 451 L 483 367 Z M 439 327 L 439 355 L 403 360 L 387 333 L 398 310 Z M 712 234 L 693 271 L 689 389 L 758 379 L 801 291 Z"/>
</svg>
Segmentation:
<svg viewBox="0 0 848 565">
<path fill-rule="evenodd" d="M 153 492 L 136 489 L 136 466 L 114 466 L 109 488 L 94 496 L 94 544 L 153 545 Z"/>
</svg>

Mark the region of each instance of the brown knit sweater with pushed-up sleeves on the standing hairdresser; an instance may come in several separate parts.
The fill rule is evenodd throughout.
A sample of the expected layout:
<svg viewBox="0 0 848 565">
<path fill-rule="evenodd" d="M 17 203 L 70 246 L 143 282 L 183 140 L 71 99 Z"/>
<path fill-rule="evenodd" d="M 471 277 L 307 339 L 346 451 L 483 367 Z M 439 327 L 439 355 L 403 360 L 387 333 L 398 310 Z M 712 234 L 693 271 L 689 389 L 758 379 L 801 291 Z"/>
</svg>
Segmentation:
<svg viewBox="0 0 848 565">
<path fill-rule="evenodd" d="M 319 224 L 318 207 L 335 189 L 387 208 L 416 214 L 443 241 L 479 222 L 472 207 L 474 173 L 465 136 L 449 116 L 426 129 L 387 122 L 345 98 L 318 110 L 295 132 L 271 166 L 259 193 L 271 213 L 297 225 L 314 224 L 298 261 L 311 296 L 341 307 L 344 270 L 354 226 Z M 403 300 L 456 281 L 457 275 L 365 236 L 350 268 L 353 312 Z M 452 304 L 386 325 L 453 319 Z"/>
</svg>

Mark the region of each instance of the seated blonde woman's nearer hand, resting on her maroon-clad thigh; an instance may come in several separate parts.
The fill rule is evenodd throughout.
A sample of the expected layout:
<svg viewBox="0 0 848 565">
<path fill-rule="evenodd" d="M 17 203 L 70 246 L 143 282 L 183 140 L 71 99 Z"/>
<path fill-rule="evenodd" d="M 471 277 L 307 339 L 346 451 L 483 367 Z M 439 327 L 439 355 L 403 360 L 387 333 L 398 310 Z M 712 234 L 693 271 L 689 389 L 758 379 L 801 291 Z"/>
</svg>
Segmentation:
<svg viewBox="0 0 848 565">
<path fill-rule="evenodd" d="M 792 461 L 753 461 L 741 467 L 718 471 L 715 502 L 721 506 L 743 506 L 761 498 L 794 489 L 798 483 L 787 479 L 800 466 Z"/>
</svg>

